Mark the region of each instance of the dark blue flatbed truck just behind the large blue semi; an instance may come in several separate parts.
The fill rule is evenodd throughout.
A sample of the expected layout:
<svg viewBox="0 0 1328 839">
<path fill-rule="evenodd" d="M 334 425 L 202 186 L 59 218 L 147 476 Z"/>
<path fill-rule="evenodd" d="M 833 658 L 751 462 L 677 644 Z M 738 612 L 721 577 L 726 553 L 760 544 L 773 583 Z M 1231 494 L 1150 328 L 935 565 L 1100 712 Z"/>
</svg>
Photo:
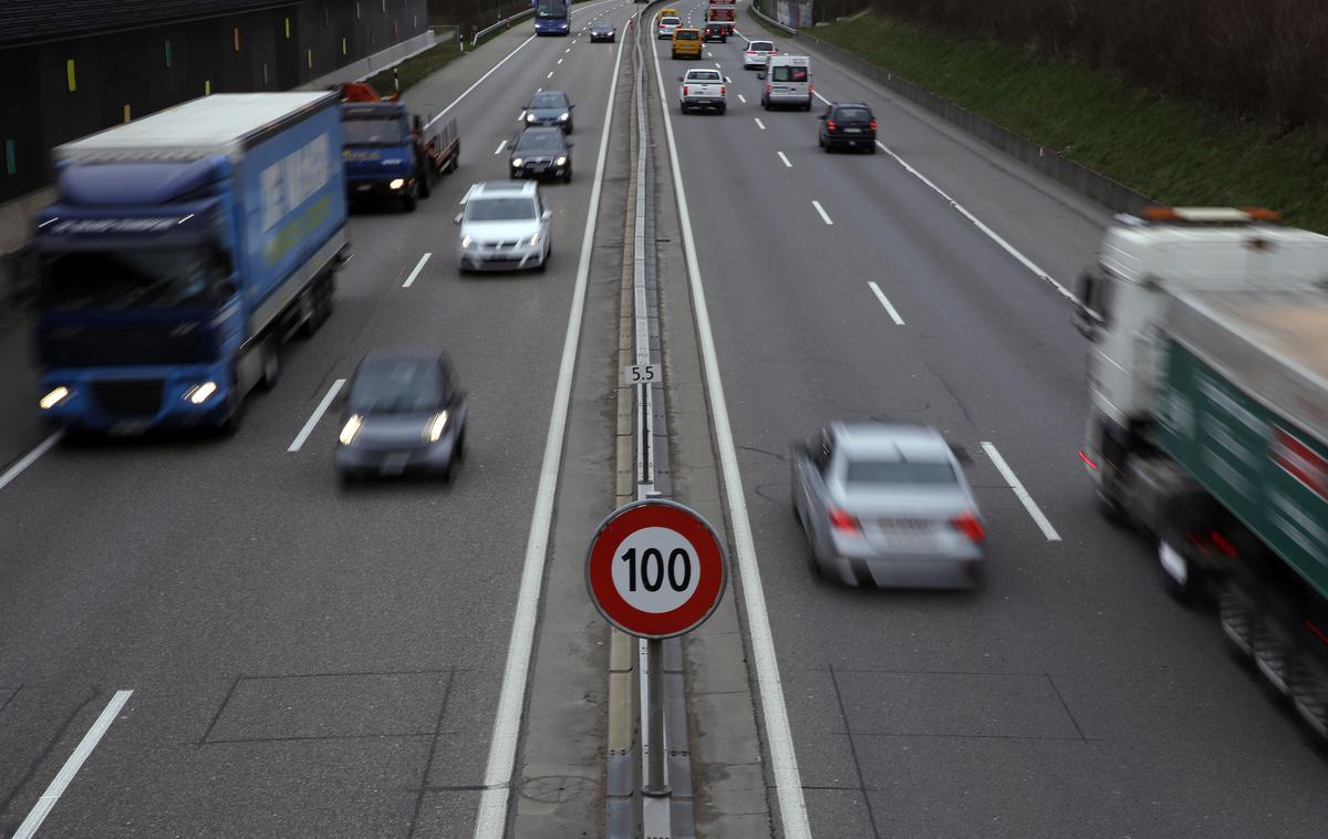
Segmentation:
<svg viewBox="0 0 1328 839">
<path fill-rule="evenodd" d="M 461 154 L 456 119 L 425 123 L 400 102 L 343 104 L 341 134 L 347 196 L 394 199 L 408 212 Z"/>
</svg>

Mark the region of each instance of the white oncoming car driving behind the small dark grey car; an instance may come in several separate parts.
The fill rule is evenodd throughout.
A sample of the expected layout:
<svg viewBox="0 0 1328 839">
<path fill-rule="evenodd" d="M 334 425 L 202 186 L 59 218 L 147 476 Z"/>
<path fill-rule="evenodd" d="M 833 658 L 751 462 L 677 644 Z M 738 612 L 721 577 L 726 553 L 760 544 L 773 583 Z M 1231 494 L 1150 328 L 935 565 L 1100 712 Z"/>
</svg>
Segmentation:
<svg viewBox="0 0 1328 839">
<path fill-rule="evenodd" d="M 551 130 L 551 129 L 539 129 Z M 470 187 L 457 215 L 461 271 L 539 268 L 548 264 L 554 214 L 535 183 L 485 182 Z"/>
</svg>

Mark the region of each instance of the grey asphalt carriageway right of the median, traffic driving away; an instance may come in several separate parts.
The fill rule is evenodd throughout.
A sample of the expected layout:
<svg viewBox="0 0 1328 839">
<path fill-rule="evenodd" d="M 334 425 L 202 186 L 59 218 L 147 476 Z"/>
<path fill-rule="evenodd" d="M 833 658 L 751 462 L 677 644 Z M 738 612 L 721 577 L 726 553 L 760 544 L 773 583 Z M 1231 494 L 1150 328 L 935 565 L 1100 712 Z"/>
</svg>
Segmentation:
<svg viewBox="0 0 1328 839">
<path fill-rule="evenodd" d="M 693 64 L 656 53 L 811 832 L 1321 835 L 1320 750 L 1094 510 L 1085 345 L 1037 273 L 1068 285 L 1106 214 L 814 58 L 821 97 L 880 123 L 875 155 L 823 154 L 825 100 L 764 112 L 742 45 L 701 62 L 733 80 L 725 115 L 681 115 Z M 967 450 L 984 588 L 811 575 L 788 445 L 837 418 L 935 425 Z"/>
</svg>

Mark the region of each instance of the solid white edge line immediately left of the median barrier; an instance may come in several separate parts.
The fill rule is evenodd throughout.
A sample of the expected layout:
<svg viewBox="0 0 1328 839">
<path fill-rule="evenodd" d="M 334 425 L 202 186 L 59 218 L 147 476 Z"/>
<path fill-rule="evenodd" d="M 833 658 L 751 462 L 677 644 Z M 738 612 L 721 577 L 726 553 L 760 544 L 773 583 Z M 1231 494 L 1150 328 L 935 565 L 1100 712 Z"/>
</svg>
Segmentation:
<svg viewBox="0 0 1328 839">
<path fill-rule="evenodd" d="M 595 218 L 604 187 L 604 161 L 608 157 L 608 133 L 614 122 L 614 98 L 618 96 L 618 77 L 623 64 L 623 46 L 618 42 L 614 77 L 608 85 L 604 105 L 604 129 L 599 138 L 599 159 L 595 163 L 595 183 L 590 191 L 586 211 L 586 234 L 582 236 L 580 263 L 572 288 L 572 305 L 567 313 L 567 337 L 558 368 L 554 389 L 554 408 L 548 417 L 548 437 L 544 441 L 544 461 L 535 489 L 535 504 L 530 515 L 530 538 L 526 542 L 526 562 L 521 572 L 521 588 L 507 641 L 507 662 L 503 668 L 498 709 L 494 713 L 493 734 L 489 737 L 489 762 L 485 766 L 483 793 L 475 812 L 475 839 L 502 839 L 507 830 L 507 799 L 515 771 L 517 743 L 521 735 L 521 712 L 526 704 L 526 678 L 530 672 L 530 652 L 535 640 L 535 619 L 539 611 L 539 592 L 544 580 L 548 556 L 548 531 L 552 526 L 554 496 L 558 491 L 558 467 L 562 462 L 563 437 L 567 430 L 567 408 L 571 404 L 572 372 L 576 366 L 576 346 L 580 344 L 582 316 L 586 308 L 586 288 L 590 284 L 590 255 L 595 244 Z"/>
</svg>

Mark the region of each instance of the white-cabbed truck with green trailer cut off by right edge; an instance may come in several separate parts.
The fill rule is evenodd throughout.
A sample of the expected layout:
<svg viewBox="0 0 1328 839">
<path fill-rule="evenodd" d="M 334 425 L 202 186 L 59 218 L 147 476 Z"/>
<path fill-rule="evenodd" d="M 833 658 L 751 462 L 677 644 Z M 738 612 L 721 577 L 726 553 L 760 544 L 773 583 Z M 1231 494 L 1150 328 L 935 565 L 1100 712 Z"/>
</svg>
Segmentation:
<svg viewBox="0 0 1328 839">
<path fill-rule="evenodd" d="M 1267 210 L 1117 216 L 1080 277 L 1080 457 L 1178 595 L 1328 737 L 1328 236 Z"/>
</svg>

